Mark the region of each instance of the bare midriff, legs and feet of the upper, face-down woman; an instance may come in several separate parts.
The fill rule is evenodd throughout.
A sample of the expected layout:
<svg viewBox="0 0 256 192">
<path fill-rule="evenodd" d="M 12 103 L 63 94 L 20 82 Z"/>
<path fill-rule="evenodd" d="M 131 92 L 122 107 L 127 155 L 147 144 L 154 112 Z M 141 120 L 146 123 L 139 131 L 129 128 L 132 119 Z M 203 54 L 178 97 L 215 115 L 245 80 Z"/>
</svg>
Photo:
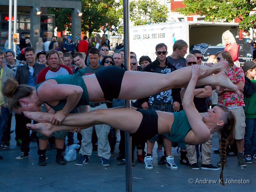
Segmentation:
<svg viewBox="0 0 256 192">
<path fill-rule="evenodd" d="M 211 74 L 217 74 L 221 71 L 227 72 L 228 68 L 227 61 L 220 61 L 212 65 L 212 67 L 206 65 L 202 66 L 202 72 L 206 73 L 198 78 L 201 79 L 201 81 L 199 81 L 196 86 L 212 84 L 212 79 L 214 77 L 211 79 L 204 79 L 204 77 Z M 191 79 L 191 70 L 192 66 L 175 70 L 170 74 L 126 71 L 122 80 L 118 98 L 128 100 L 141 99 L 173 88 L 187 87 Z M 223 76 L 223 80 L 219 81 L 217 79 L 218 81 L 215 81 L 216 85 L 234 90 L 238 95 L 240 95 L 238 88 L 229 80 L 227 74 L 223 72 L 221 75 Z M 87 86 L 90 100 L 93 102 L 104 101 L 104 94 L 96 76 L 83 76 L 83 78 Z M 140 82 L 140 84 L 138 84 L 138 82 Z M 134 84 L 136 84 L 136 86 L 134 86 Z"/>
</svg>

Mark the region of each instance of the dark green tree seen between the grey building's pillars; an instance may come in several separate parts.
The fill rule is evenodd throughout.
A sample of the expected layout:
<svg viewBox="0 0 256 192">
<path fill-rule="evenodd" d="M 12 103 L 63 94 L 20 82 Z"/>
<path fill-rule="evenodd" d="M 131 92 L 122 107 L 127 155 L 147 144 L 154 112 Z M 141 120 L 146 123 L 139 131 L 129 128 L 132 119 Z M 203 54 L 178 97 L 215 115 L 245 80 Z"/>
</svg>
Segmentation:
<svg viewBox="0 0 256 192">
<path fill-rule="evenodd" d="M 48 8 L 47 13 L 55 15 L 57 31 L 68 31 L 68 33 L 71 33 L 71 9 Z"/>
</svg>

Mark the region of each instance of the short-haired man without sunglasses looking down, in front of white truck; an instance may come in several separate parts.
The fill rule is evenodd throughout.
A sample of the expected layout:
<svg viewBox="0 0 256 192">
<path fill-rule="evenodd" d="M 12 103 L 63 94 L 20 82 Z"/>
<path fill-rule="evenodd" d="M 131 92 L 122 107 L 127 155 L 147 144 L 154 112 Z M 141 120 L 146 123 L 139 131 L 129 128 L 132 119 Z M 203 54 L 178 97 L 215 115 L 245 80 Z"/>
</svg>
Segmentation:
<svg viewBox="0 0 256 192">
<path fill-rule="evenodd" d="M 173 44 L 172 50 L 172 54 L 166 57 L 168 62 L 176 67 L 176 69 L 186 67 L 186 59 L 184 56 L 187 54 L 188 44 L 182 39 L 179 39 Z"/>
</svg>

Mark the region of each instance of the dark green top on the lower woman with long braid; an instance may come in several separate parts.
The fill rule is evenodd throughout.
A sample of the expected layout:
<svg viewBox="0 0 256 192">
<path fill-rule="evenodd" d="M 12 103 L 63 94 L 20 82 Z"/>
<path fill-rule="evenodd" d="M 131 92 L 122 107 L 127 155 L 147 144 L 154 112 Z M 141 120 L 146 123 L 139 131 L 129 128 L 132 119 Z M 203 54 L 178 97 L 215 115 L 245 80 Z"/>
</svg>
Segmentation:
<svg viewBox="0 0 256 192">
<path fill-rule="evenodd" d="M 191 130 L 185 111 L 173 112 L 174 121 L 168 139 L 175 143 L 185 143 L 185 137 Z"/>
</svg>

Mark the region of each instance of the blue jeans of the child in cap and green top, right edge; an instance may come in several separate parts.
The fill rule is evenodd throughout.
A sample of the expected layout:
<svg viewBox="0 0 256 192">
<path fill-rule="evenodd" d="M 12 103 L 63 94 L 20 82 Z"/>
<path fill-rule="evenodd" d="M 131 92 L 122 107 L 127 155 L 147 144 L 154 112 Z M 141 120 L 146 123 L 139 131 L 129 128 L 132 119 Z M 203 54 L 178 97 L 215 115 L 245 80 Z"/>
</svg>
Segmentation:
<svg viewBox="0 0 256 192">
<path fill-rule="evenodd" d="M 244 155 L 256 154 L 256 119 L 245 118 Z"/>
</svg>

